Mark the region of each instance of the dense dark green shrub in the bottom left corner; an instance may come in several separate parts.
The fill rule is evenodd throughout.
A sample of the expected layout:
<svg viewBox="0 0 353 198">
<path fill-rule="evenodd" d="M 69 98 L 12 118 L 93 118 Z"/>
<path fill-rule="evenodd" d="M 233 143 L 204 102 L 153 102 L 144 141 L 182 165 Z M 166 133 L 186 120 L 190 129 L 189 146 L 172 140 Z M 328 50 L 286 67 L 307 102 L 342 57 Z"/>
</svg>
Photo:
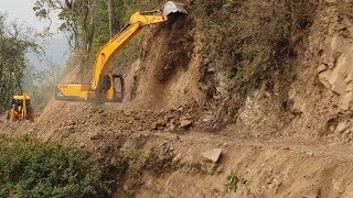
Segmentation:
<svg viewBox="0 0 353 198">
<path fill-rule="evenodd" d="M 108 182 L 77 150 L 0 141 L 0 197 L 106 197 Z"/>
</svg>

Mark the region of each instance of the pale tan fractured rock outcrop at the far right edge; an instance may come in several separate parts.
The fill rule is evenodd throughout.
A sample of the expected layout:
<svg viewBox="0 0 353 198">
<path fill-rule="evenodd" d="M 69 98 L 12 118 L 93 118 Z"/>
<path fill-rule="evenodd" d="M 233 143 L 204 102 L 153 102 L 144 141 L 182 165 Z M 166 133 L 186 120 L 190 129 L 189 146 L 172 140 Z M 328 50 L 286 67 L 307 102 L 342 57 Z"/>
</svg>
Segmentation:
<svg viewBox="0 0 353 198">
<path fill-rule="evenodd" d="M 353 25 L 347 19 L 333 24 L 322 47 L 319 81 L 340 96 L 339 109 L 353 110 Z"/>
</svg>

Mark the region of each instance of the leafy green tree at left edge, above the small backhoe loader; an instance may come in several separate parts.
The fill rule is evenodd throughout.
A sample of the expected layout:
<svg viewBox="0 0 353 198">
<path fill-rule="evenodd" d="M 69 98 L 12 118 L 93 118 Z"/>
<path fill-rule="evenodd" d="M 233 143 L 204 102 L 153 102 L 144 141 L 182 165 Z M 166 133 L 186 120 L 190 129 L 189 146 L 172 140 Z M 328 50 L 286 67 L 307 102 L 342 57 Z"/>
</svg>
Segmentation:
<svg viewBox="0 0 353 198">
<path fill-rule="evenodd" d="M 31 41 L 30 32 L 24 24 L 8 23 L 0 14 L 0 111 L 7 108 L 11 96 L 22 92 L 25 53 L 38 47 Z"/>
</svg>

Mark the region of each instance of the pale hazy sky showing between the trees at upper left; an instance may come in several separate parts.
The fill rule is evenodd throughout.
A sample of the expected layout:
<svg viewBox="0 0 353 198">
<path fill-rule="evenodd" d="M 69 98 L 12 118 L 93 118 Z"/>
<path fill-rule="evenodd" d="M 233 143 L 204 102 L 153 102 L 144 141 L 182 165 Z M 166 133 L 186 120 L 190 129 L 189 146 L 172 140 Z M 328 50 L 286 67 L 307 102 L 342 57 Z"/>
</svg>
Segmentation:
<svg viewBox="0 0 353 198">
<path fill-rule="evenodd" d="M 44 28 L 49 25 L 46 21 L 40 21 L 36 19 L 33 4 L 35 0 L 0 0 L 0 12 L 8 14 L 8 20 L 17 20 L 19 22 L 24 22 L 26 25 L 34 28 L 38 31 L 42 31 Z M 52 15 L 52 31 L 55 33 L 53 37 L 47 38 L 44 45 L 45 53 L 47 54 L 49 58 L 52 59 L 55 64 L 64 66 L 67 56 L 68 56 L 68 44 L 64 34 L 57 31 L 61 21 Z M 41 42 L 39 40 L 39 42 Z M 41 42 L 42 43 L 42 42 Z M 30 62 L 36 67 L 45 67 L 45 63 L 40 63 L 36 56 L 33 54 L 28 55 Z"/>
</svg>

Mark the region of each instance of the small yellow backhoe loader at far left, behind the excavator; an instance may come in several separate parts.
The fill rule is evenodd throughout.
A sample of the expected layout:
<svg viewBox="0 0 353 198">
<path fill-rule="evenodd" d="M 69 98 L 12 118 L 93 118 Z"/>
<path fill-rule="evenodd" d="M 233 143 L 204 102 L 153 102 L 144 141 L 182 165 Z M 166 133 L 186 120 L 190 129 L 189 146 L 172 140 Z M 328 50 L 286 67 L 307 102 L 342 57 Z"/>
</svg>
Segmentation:
<svg viewBox="0 0 353 198">
<path fill-rule="evenodd" d="M 11 109 L 7 112 L 7 120 L 10 122 L 34 122 L 34 110 L 31 106 L 31 98 L 25 92 L 20 96 L 13 96 Z"/>
</svg>

